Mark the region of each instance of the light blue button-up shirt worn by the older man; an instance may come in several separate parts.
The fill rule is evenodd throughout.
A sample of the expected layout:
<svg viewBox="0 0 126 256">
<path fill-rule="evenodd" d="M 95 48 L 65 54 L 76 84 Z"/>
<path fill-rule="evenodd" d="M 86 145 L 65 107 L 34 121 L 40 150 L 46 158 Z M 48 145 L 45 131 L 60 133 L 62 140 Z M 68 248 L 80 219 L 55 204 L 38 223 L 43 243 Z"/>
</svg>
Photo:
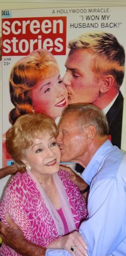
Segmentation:
<svg viewBox="0 0 126 256">
<path fill-rule="evenodd" d="M 126 256 L 124 155 L 122 150 L 107 140 L 83 171 L 82 178 L 91 187 L 88 198 L 89 216 L 81 224 L 79 232 L 87 242 L 89 256 Z M 46 251 L 46 256 L 70 255 L 61 249 Z"/>
</svg>

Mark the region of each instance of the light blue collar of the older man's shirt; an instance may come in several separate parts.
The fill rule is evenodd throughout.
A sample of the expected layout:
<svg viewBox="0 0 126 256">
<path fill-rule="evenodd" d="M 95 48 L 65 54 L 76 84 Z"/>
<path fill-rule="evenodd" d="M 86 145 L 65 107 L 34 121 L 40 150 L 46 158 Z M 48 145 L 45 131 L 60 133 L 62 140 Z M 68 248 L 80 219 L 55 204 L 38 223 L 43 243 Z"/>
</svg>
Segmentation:
<svg viewBox="0 0 126 256">
<path fill-rule="evenodd" d="M 91 181 L 97 173 L 103 157 L 106 155 L 106 153 L 108 153 L 108 150 L 110 150 L 110 148 L 112 148 L 112 143 L 110 142 L 110 140 L 107 140 L 106 142 L 104 142 L 104 144 L 102 144 L 102 146 L 100 146 L 100 148 L 98 148 L 94 156 L 91 158 L 89 164 L 81 175 L 85 182 L 87 182 L 87 184 L 91 185 Z"/>
</svg>

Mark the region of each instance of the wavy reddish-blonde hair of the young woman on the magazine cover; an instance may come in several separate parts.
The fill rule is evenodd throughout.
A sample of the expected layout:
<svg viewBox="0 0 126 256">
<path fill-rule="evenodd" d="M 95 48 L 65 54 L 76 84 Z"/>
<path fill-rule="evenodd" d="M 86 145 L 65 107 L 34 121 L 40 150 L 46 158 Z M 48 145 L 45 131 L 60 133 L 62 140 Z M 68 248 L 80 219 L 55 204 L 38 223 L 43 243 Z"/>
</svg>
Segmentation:
<svg viewBox="0 0 126 256">
<path fill-rule="evenodd" d="M 22 114 L 32 113 L 31 90 L 37 82 L 59 72 L 57 61 L 46 49 L 38 49 L 21 58 L 10 74 L 10 97 L 15 108 L 10 111 L 9 121 L 14 124 Z"/>
</svg>

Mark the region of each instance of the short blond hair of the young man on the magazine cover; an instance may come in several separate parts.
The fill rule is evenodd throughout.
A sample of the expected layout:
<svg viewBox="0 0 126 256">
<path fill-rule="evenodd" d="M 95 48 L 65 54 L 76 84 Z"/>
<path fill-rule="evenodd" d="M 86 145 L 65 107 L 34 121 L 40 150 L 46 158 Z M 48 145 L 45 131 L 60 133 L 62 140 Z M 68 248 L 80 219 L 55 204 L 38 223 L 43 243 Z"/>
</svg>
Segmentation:
<svg viewBox="0 0 126 256">
<path fill-rule="evenodd" d="M 113 75 L 119 90 L 124 78 L 125 52 L 114 35 L 106 32 L 84 33 L 70 40 L 68 47 L 71 50 L 84 49 L 93 54 L 93 72 L 97 76 Z"/>
</svg>

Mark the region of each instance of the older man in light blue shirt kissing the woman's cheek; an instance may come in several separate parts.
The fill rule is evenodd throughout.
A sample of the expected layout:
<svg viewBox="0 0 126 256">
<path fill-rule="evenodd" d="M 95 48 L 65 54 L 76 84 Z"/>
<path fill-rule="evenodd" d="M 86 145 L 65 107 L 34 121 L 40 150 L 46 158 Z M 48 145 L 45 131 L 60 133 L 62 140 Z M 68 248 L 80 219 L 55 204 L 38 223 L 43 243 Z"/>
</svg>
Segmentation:
<svg viewBox="0 0 126 256">
<path fill-rule="evenodd" d="M 2 224 L 2 232 L 9 238 L 7 243 L 26 256 L 124 256 L 126 254 L 126 154 L 108 140 L 108 123 L 102 111 L 92 104 L 73 104 L 65 109 L 59 124 L 57 142 L 61 149 L 63 161 L 76 161 L 85 170 L 82 177 L 90 185 L 88 198 L 89 216 L 79 228 L 79 232 L 87 243 L 87 253 L 81 251 L 82 237 L 77 232 L 59 238 L 51 243 L 51 248 L 68 248 L 66 250 L 47 249 L 33 245 L 31 254 L 19 250 L 12 240 L 19 239 L 21 247 L 26 242 L 20 230 L 8 218 L 12 228 Z M 79 182 L 81 190 L 83 181 Z M 85 191 L 81 191 L 82 193 Z M 12 229 L 12 231 L 11 231 Z M 11 232 L 12 233 L 11 233 Z M 18 236 L 17 236 L 18 232 Z M 5 239 L 4 234 L 0 233 Z M 10 236 L 11 235 L 11 236 Z M 10 239 L 11 238 L 11 239 Z M 24 239 L 24 240 L 23 240 Z M 80 244 L 79 244 L 80 243 Z M 22 245 L 23 246 L 23 245 Z M 35 250 L 36 248 L 36 250 Z M 86 248 L 86 247 L 85 247 Z M 35 254 L 37 252 L 38 253 Z"/>
</svg>

